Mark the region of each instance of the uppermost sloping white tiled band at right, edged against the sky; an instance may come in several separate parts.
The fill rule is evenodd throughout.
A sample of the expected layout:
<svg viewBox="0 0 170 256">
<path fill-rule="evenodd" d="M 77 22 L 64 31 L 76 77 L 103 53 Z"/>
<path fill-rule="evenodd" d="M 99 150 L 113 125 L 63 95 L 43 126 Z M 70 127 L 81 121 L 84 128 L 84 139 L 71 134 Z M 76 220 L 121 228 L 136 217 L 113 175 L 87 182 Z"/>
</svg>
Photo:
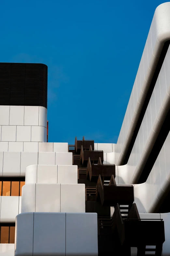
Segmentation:
<svg viewBox="0 0 170 256">
<path fill-rule="evenodd" d="M 163 44 L 170 39 L 169 13 L 170 2 L 155 10 L 116 145 L 117 165 L 121 165 L 126 156 Z"/>
</svg>

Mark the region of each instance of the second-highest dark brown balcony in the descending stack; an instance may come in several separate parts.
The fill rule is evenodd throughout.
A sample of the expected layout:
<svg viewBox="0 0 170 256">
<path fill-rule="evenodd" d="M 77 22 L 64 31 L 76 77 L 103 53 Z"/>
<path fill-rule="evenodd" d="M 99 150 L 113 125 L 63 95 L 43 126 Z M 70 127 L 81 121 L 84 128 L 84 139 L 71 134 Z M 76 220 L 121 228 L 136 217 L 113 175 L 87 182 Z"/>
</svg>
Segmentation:
<svg viewBox="0 0 170 256">
<path fill-rule="evenodd" d="M 81 146 L 80 152 L 80 163 L 87 166 L 88 160 L 90 158 L 91 163 L 98 163 L 99 157 L 101 158 L 101 162 L 103 163 L 103 150 L 92 150 L 92 146 L 90 145 L 89 150 L 83 150 L 83 146 Z"/>
</svg>

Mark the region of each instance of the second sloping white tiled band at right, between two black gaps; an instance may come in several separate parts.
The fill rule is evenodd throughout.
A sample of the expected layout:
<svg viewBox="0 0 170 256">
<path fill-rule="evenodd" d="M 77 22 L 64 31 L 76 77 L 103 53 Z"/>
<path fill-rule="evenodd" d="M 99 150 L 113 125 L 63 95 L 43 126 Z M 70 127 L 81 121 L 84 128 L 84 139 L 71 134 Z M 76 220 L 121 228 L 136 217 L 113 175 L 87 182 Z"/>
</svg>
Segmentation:
<svg viewBox="0 0 170 256">
<path fill-rule="evenodd" d="M 128 182 L 137 183 L 170 108 L 170 47 L 156 81 L 132 153 L 128 160 Z"/>
</svg>

